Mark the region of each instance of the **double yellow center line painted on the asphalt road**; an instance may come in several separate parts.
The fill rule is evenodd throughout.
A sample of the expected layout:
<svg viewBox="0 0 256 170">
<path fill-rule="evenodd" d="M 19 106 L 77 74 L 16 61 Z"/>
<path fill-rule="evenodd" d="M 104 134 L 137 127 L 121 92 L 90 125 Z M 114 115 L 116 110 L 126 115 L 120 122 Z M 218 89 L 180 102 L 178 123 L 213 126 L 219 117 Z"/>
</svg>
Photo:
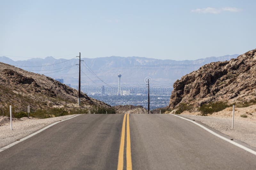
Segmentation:
<svg viewBox="0 0 256 170">
<path fill-rule="evenodd" d="M 124 168 L 124 136 L 125 136 L 125 120 L 127 115 L 126 122 L 126 169 L 132 170 L 132 155 L 131 155 L 131 138 L 130 138 L 130 123 L 129 123 L 129 114 L 124 115 L 122 133 L 121 133 L 121 142 L 120 149 L 118 154 L 118 165 L 117 170 L 123 170 Z"/>
</svg>

